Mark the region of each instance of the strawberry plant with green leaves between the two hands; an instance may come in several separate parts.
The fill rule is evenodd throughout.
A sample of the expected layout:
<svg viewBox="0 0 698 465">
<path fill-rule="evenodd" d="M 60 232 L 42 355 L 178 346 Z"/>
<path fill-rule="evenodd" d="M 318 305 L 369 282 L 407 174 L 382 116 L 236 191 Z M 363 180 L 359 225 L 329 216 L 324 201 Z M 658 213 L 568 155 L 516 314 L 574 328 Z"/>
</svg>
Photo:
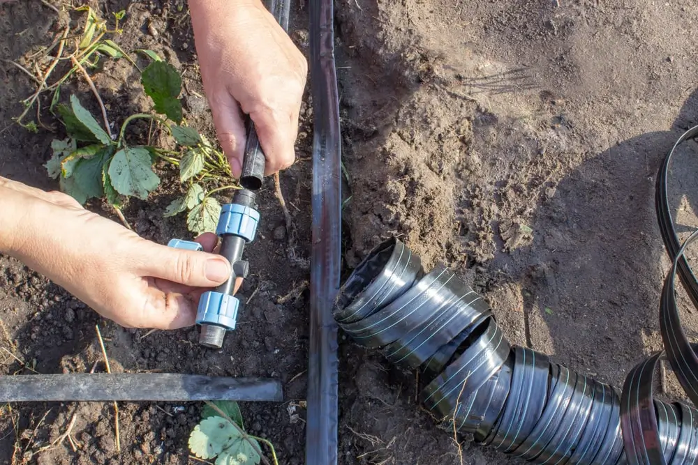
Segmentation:
<svg viewBox="0 0 698 465">
<path fill-rule="evenodd" d="M 57 105 L 68 137 L 53 141 L 53 156 L 45 167 L 49 176 L 59 180 L 61 190 L 80 204 L 91 198 L 104 198 L 119 209 L 129 197 L 147 199 L 160 185 L 154 165 L 163 160 L 178 167 L 179 181 L 185 190 L 163 215 L 186 212 L 190 231 L 214 231 L 221 205 L 212 195 L 239 187 L 231 182 L 225 156 L 205 136 L 184 124 L 179 100 L 181 75 L 177 69 L 152 52 L 147 55 L 153 61 L 142 71 L 141 83 L 153 102 L 154 112 L 126 117 L 119 133 L 112 135 L 108 125 L 100 125 L 77 96 L 70 96 L 70 105 Z M 129 142 L 128 125 L 138 119 L 149 120 L 168 132 L 179 150 Z"/>
</svg>

